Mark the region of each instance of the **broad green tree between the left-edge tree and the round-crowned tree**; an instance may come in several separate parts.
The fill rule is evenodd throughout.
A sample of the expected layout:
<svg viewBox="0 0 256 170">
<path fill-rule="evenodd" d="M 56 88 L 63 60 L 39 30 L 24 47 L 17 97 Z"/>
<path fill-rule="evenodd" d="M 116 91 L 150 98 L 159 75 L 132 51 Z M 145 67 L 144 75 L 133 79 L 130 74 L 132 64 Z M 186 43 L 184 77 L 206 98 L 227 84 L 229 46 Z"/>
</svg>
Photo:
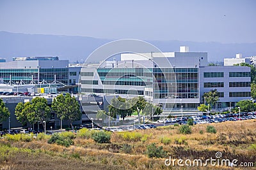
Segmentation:
<svg viewBox="0 0 256 170">
<path fill-rule="evenodd" d="M 50 118 L 51 108 L 47 105 L 47 99 L 35 97 L 31 102 L 18 103 L 15 107 L 15 115 L 22 125 L 26 125 L 28 122 L 35 124 L 35 122 L 43 122 Z"/>
</svg>

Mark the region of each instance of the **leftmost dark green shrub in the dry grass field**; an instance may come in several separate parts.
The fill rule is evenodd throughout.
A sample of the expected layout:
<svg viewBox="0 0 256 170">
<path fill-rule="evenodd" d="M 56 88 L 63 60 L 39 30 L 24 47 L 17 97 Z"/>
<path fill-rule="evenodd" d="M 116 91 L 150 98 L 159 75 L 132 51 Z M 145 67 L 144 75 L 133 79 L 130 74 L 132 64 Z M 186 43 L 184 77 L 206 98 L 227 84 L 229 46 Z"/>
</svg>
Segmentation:
<svg viewBox="0 0 256 170">
<path fill-rule="evenodd" d="M 74 144 L 74 141 L 70 139 L 68 136 L 63 136 L 60 133 L 54 133 L 52 134 L 51 138 L 48 140 L 48 143 L 56 143 L 58 145 L 62 146 L 70 146 Z"/>
</svg>

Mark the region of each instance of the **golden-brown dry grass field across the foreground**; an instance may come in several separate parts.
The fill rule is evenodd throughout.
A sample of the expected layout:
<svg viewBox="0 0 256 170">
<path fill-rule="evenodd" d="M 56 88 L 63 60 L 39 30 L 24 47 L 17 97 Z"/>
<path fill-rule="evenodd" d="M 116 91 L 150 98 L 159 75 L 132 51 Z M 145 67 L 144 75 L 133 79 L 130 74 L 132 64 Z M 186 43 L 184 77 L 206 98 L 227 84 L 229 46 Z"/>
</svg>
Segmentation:
<svg viewBox="0 0 256 170">
<path fill-rule="evenodd" d="M 135 132 L 115 132 L 110 143 L 96 143 L 78 132 L 74 145 L 65 147 L 40 138 L 0 139 L 0 169 L 235 169 L 227 166 L 165 166 L 164 160 L 215 158 L 256 162 L 256 121 L 210 124 L 216 133 L 206 132 L 207 124 L 193 125 L 191 134 L 180 134 L 180 126 L 169 125 Z M 79 134 L 80 133 L 80 134 Z M 85 131 L 84 133 L 92 133 Z M 164 157 L 148 157 L 147 146 L 163 147 Z M 256 169 L 236 167 L 236 169 Z"/>
</svg>

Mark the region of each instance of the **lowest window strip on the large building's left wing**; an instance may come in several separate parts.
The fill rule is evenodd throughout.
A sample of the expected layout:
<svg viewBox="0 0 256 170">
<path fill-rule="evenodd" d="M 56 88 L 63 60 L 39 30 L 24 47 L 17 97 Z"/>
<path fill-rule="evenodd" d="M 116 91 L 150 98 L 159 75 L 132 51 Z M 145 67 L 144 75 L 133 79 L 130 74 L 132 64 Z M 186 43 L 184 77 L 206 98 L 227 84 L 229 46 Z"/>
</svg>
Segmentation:
<svg viewBox="0 0 256 170">
<path fill-rule="evenodd" d="M 118 90 L 118 89 L 81 89 L 82 92 L 87 93 L 104 93 L 104 94 L 133 94 L 143 95 L 143 90 Z"/>
</svg>

